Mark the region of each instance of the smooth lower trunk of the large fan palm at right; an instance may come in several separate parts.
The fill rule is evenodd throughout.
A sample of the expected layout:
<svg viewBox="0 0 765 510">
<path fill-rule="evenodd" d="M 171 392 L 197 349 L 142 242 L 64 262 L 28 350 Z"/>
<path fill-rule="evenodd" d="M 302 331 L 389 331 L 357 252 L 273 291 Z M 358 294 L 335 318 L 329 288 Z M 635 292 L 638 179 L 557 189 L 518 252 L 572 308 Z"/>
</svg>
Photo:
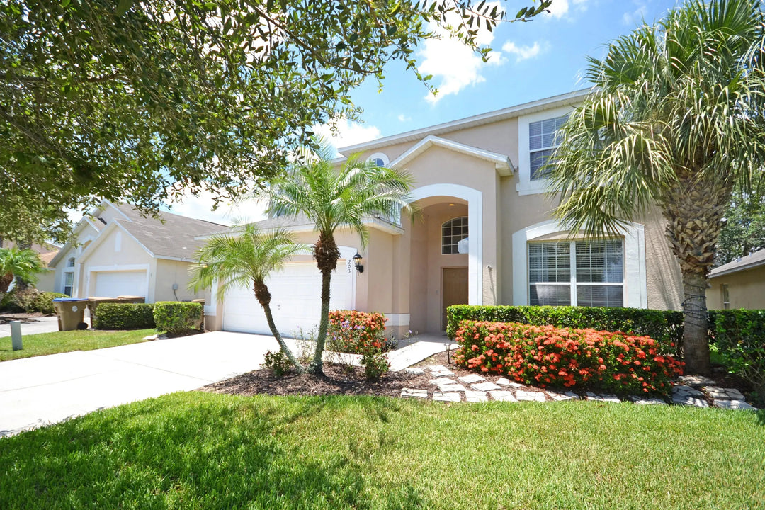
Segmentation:
<svg viewBox="0 0 765 510">
<path fill-rule="evenodd" d="M 711 366 L 707 338 L 707 278 L 698 271 L 683 271 L 682 287 L 685 297 L 682 300 L 685 373 L 708 374 Z"/>
</svg>

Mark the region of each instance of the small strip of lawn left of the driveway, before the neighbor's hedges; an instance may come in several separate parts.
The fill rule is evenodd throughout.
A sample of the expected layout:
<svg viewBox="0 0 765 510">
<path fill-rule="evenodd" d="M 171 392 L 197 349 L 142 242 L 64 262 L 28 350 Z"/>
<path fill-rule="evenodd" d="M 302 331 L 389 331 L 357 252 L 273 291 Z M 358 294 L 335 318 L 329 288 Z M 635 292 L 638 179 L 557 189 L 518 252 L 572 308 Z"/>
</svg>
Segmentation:
<svg viewBox="0 0 765 510">
<path fill-rule="evenodd" d="M 153 335 L 156 330 L 131 331 L 56 331 L 24 335 L 21 342 L 24 349 L 15 351 L 11 347 L 11 337 L 0 338 L 0 361 L 9 359 L 31 358 L 59 352 L 90 351 L 104 347 L 124 346 L 128 343 L 142 342 L 144 336 Z M 2 508 L 2 507 L 0 507 Z"/>
</svg>

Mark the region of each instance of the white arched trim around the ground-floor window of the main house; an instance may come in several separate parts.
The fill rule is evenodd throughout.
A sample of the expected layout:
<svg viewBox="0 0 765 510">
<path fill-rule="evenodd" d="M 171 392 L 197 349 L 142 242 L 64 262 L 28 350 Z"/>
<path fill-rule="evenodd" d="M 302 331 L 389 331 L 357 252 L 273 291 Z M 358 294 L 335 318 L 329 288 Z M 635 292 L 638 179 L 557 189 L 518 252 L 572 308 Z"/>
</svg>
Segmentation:
<svg viewBox="0 0 765 510">
<path fill-rule="evenodd" d="M 529 241 L 558 232 L 567 231 L 560 223 L 551 219 L 513 234 L 514 305 L 529 304 Z M 624 237 L 624 306 L 647 308 L 645 228 L 640 223 L 627 223 L 618 233 Z"/>
</svg>

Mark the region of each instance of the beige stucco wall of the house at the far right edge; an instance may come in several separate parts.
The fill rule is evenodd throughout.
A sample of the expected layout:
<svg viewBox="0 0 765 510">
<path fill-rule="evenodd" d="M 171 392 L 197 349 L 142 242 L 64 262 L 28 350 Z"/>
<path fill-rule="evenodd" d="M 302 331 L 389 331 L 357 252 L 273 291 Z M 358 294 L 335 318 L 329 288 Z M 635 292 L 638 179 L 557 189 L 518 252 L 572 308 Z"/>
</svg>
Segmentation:
<svg viewBox="0 0 765 510">
<path fill-rule="evenodd" d="M 707 289 L 707 307 L 710 310 L 722 310 L 722 285 L 728 285 L 728 297 L 731 310 L 765 310 L 765 265 L 731 274 L 724 274 L 709 280 Z"/>
</svg>

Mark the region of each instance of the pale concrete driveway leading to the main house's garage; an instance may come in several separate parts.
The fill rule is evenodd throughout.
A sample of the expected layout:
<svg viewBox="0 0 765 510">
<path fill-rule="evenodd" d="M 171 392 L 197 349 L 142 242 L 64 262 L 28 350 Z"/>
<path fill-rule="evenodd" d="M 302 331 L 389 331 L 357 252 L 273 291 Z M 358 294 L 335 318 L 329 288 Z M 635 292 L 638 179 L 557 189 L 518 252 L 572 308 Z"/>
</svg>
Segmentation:
<svg viewBox="0 0 765 510">
<path fill-rule="evenodd" d="M 0 437 L 259 368 L 272 336 L 213 332 L 0 363 Z"/>
</svg>

